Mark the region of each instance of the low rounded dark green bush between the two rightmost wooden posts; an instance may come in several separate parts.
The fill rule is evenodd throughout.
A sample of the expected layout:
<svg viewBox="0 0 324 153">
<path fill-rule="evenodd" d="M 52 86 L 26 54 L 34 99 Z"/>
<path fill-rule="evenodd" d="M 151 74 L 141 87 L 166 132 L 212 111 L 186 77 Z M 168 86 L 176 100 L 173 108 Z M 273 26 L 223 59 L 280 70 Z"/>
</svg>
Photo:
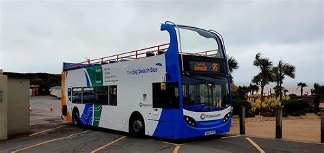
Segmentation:
<svg viewBox="0 0 324 153">
<path fill-rule="evenodd" d="M 307 102 L 301 101 L 301 100 L 287 100 L 282 102 L 282 105 L 284 105 L 283 111 L 295 115 L 298 115 L 299 113 L 303 112 L 306 113 L 306 110 L 310 105 Z M 301 112 L 299 112 L 301 111 Z M 299 112 L 299 113 L 297 113 Z M 293 114 L 292 114 L 293 115 Z"/>
</svg>

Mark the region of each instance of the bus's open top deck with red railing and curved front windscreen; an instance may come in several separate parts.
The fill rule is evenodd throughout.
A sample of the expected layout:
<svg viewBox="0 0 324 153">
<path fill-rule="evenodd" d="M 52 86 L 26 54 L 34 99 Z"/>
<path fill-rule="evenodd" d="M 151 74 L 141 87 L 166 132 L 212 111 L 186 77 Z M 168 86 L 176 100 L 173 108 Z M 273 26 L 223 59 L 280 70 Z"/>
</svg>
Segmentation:
<svg viewBox="0 0 324 153">
<path fill-rule="evenodd" d="M 216 36 L 218 35 L 217 32 L 216 34 L 215 32 L 206 31 L 204 29 L 170 25 L 167 23 L 161 25 L 161 30 L 167 30 L 170 33 L 170 43 L 141 48 L 117 55 L 100 57 L 98 59 L 87 59 L 87 61 L 80 63 L 64 63 L 63 71 L 153 57 L 155 55 L 162 55 L 169 51 L 172 51 L 169 57 L 180 55 L 180 58 L 177 59 L 180 61 L 180 65 L 183 65 L 183 55 L 218 58 L 224 58 L 226 56 L 226 54 L 221 50 L 224 44 L 222 40 L 219 39 L 219 36 Z M 181 38 L 180 33 L 182 35 Z M 183 46 L 183 48 L 181 48 L 181 46 Z M 183 66 L 182 70 L 184 70 Z"/>
</svg>

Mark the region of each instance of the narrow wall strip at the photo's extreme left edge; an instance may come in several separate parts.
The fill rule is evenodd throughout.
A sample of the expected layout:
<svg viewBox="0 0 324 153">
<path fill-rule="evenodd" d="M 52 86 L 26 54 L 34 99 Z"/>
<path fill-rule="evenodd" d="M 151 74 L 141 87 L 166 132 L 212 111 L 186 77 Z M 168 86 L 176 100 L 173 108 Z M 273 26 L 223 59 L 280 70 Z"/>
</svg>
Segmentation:
<svg viewBox="0 0 324 153">
<path fill-rule="evenodd" d="M 0 101 L 0 140 L 7 139 L 7 81 L 8 77 L 0 74 L 0 90 L 2 101 Z"/>
</svg>

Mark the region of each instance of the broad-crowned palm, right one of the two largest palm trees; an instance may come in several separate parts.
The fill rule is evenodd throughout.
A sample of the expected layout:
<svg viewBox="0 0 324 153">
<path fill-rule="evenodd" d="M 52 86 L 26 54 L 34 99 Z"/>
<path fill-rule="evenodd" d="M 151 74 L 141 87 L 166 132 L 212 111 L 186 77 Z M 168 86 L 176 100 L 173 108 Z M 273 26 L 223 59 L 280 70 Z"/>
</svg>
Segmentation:
<svg viewBox="0 0 324 153">
<path fill-rule="evenodd" d="M 295 79 L 295 66 L 288 64 L 282 60 L 280 60 L 277 66 L 274 66 L 271 69 L 273 81 L 277 84 L 277 96 L 279 95 L 279 99 L 282 100 L 282 83 L 284 81 L 284 77 L 290 77 Z M 273 88 L 274 89 L 274 88 Z"/>
</svg>

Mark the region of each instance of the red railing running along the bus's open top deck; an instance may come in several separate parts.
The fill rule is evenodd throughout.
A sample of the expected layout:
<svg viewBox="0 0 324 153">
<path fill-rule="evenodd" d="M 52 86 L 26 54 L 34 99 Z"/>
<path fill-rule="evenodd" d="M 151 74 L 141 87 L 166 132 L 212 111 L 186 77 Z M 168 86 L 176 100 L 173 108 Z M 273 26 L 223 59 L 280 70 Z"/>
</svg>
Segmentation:
<svg viewBox="0 0 324 153">
<path fill-rule="evenodd" d="M 167 51 L 167 48 L 169 47 L 169 44 L 160 44 L 157 46 L 151 46 L 148 48 L 142 48 L 135 51 L 130 51 L 126 53 L 121 53 L 117 55 L 111 55 L 107 57 L 102 57 L 98 59 L 87 59 L 87 61 L 83 61 L 81 63 L 77 64 L 69 64 L 67 66 L 64 66 L 63 71 L 67 70 L 75 70 L 79 68 L 87 68 L 90 66 L 100 66 L 103 64 L 112 64 L 119 61 L 129 61 L 133 59 L 139 59 L 143 57 L 150 57 L 154 55 L 161 55 Z M 215 57 L 216 53 L 213 53 L 218 50 L 212 50 L 212 51 L 203 51 L 199 53 L 185 53 L 184 55 L 195 55 L 195 56 L 205 56 L 205 57 Z"/>
</svg>

